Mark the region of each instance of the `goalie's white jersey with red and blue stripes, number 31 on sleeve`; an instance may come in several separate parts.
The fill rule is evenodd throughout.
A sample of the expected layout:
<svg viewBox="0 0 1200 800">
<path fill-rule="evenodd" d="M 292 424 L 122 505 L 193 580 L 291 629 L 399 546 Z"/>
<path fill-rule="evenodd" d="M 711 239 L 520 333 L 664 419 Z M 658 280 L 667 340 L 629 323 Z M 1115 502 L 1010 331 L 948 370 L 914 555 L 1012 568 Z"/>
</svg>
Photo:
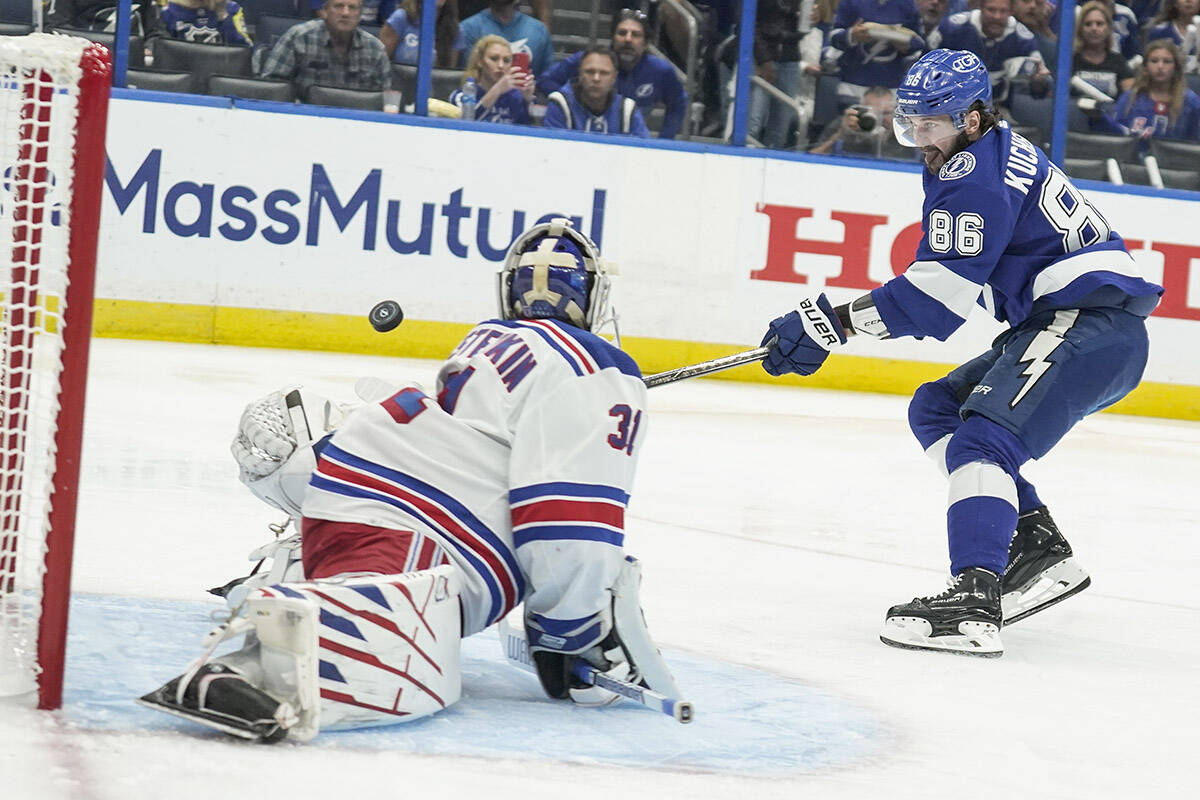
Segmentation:
<svg viewBox="0 0 1200 800">
<path fill-rule="evenodd" d="M 462 572 L 464 636 L 522 601 L 547 630 L 600 613 L 646 431 L 637 365 L 564 323 L 491 320 L 437 389 L 362 407 L 319 443 L 305 518 L 436 542 Z"/>
</svg>

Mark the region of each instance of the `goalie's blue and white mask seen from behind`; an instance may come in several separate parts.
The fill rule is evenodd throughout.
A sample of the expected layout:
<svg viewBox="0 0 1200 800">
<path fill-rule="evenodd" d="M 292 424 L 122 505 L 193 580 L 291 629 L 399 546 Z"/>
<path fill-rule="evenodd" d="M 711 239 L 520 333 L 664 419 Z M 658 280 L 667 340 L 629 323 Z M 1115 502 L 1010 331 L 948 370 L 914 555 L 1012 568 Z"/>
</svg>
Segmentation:
<svg viewBox="0 0 1200 800">
<path fill-rule="evenodd" d="M 512 242 L 499 275 L 500 317 L 558 319 L 598 332 L 616 314 L 608 306 L 611 265 L 568 219 L 534 225 Z"/>
</svg>

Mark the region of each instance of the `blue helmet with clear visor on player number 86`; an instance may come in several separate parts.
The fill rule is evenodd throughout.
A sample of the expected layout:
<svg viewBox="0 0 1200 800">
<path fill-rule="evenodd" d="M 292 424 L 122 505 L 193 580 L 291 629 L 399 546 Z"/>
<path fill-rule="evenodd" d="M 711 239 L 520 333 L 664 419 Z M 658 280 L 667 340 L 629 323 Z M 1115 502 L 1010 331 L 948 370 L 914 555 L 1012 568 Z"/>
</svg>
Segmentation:
<svg viewBox="0 0 1200 800">
<path fill-rule="evenodd" d="M 979 56 L 970 50 L 930 50 L 910 67 L 896 90 L 896 140 L 910 148 L 928 144 L 918 142 L 917 118 L 943 114 L 961 133 L 976 101 L 991 106 L 991 76 Z"/>
</svg>

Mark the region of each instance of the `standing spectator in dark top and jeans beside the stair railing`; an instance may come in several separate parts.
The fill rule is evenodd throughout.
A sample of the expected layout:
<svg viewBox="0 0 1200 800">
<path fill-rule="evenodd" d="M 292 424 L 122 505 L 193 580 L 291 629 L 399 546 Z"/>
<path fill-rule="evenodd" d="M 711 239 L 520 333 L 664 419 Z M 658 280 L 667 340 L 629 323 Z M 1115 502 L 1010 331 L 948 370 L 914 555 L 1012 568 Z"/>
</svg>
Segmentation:
<svg viewBox="0 0 1200 800">
<path fill-rule="evenodd" d="M 796 97 L 800 85 L 799 11 L 800 0 L 762 0 L 755 20 L 755 74 L 788 97 Z M 751 137 L 774 150 L 785 148 L 796 118 L 791 106 L 754 86 L 746 116 Z"/>
</svg>

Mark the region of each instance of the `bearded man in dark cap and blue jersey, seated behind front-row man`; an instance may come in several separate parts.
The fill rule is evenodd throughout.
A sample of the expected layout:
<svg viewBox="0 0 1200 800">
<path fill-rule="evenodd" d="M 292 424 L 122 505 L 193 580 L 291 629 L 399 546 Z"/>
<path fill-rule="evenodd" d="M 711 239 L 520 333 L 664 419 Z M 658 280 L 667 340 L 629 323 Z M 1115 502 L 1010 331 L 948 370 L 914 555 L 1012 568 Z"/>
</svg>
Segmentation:
<svg viewBox="0 0 1200 800">
<path fill-rule="evenodd" d="M 660 139 L 673 139 L 688 113 L 688 92 L 674 66 L 666 59 L 646 53 L 646 14 L 622 8 L 612 19 L 612 49 L 617 54 L 617 91 L 637 103 L 642 118 L 659 103 L 666 108 Z M 582 53 L 563 59 L 538 79 L 538 89 L 547 95 L 570 83 L 580 73 Z"/>
</svg>

